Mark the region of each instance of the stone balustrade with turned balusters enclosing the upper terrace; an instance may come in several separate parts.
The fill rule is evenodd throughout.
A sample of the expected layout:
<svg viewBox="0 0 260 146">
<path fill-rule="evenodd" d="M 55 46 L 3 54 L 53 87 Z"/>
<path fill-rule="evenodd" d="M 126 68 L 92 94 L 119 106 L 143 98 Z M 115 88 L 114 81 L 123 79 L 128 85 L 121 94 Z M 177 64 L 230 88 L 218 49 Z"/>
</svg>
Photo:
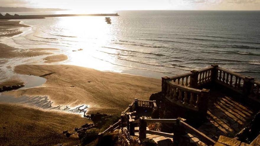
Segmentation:
<svg viewBox="0 0 260 146">
<path fill-rule="evenodd" d="M 215 83 L 223 86 L 223 89 L 235 91 L 241 95 L 242 99 L 249 97 L 260 103 L 259 81 L 220 68 L 218 65 L 211 65 L 201 70 L 191 70 L 190 73 L 179 76 L 162 77 L 161 96 L 172 103 L 195 111 L 200 111 L 199 104 L 201 104 L 204 106 L 201 110 L 205 111 L 208 90 L 199 89 Z"/>
</svg>

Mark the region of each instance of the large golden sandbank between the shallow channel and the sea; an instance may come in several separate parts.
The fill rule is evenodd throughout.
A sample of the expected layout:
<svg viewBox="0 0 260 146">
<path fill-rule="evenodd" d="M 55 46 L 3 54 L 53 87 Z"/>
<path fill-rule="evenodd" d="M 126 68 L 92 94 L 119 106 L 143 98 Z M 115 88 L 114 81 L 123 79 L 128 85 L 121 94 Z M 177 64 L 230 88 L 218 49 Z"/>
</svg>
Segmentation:
<svg viewBox="0 0 260 146">
<path fill-rule="evenodd" d="M 103 72 L 73 65 L 19 65 L 16 73 L 41 76 L 43 86 L 9 91 L 4 94 L 48 96 L 53 106 L 89 105 L 87 113 L 119 114 L 135 98 L 149 99 L 161 90 L 155 78 Z"/>
</svg>

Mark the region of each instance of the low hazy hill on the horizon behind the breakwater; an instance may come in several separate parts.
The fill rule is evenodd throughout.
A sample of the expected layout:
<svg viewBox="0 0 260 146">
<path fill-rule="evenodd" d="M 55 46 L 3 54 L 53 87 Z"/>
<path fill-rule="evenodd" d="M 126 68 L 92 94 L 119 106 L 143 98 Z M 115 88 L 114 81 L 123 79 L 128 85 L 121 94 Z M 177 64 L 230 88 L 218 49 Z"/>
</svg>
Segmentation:
<svg viewBox="0 0 260 146">
<path fill-rule="evenodd" d="M 0 7 L 0 12 L 37 12 L 37 11 L 66 11 L 66 10 L 68 10 L 68 9 Z"/>
</svg>

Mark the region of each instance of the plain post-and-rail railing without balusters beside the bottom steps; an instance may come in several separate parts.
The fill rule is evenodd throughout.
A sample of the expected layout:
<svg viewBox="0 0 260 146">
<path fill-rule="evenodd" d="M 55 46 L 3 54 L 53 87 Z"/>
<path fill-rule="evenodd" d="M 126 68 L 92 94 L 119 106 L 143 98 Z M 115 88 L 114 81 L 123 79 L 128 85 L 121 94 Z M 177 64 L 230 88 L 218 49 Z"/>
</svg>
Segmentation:
<svg viewBox="0 0 260 146">
<path fill-rule="evenodd" d="M 204 133 L 196 130 L 191 127 L 189 124 L 185 123 L 186 119 L 177 118 L 177 119 L 144 119 L 143 117 L 139 118 L 139 140 L 142 142 L 146 138 L 146 134 L 155 134 L 164 137 L 173 138 L 173 143 L 177 144 L 181 141 L 182 135 L 185 135 L 186 131 L 196 134 L 203 142 L 208 145 L 214 145 L 216 142 L 211 138 L 207 137 Z M 147 130 L 147 123 L 170 123 L 174 124 L 173 133 L 165 133 L 160 131 Z"/>
</svg>

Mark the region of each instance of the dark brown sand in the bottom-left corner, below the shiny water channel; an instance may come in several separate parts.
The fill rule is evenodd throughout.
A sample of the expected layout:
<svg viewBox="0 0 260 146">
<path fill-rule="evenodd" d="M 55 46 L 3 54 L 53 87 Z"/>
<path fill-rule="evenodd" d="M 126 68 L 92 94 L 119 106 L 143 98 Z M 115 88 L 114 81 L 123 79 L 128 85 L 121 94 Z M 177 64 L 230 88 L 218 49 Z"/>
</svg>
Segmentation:
<svg viewBox="0 0 260 146">
<path fill-rule="evenodd" d="M 62 132 L 91 122 L 77 114 L 18 104 L 0 104 L 0 111 L 0 145 L 77 145 L 77 134 L 67 138 Z"/>
</svg>

